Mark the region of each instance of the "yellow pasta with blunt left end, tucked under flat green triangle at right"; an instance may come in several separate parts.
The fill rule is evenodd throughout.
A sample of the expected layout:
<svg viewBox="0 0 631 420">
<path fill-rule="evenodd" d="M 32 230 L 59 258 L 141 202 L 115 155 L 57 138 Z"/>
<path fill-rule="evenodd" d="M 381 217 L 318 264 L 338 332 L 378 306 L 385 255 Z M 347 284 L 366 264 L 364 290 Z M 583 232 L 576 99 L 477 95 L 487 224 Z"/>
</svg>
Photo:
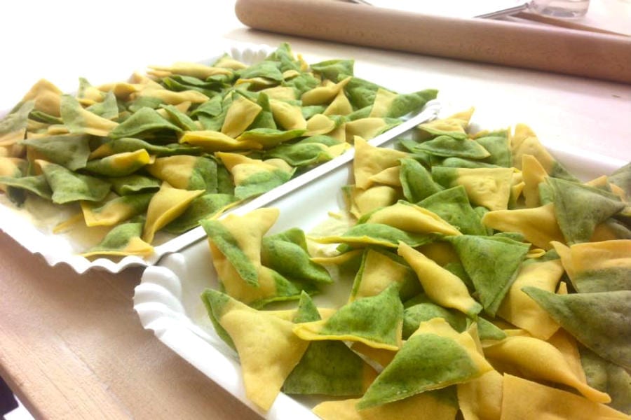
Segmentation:
<svg viewBox="0 0 631 420">
<path fill-rule="evenodd" d="M 501 232 L 519 232 L 531 244 L 543 249 L 552 248 L 552 241 L 565 240 L 552 203 L 531 209 L 489 211 L 482 217 L 482 223 Z"/>
</svg>

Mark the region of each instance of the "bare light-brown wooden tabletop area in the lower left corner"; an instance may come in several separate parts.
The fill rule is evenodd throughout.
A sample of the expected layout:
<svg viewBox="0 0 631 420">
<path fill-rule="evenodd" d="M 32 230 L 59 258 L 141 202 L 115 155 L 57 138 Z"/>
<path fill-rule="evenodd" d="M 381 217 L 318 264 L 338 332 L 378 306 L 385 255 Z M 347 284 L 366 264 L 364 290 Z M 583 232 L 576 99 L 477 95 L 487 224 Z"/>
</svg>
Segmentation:
<svg viewBox="0 0 631 420">
<path fill-rule="evenodd" d="M 0 232 L 0 375 L 36 419 L 259 419 L 144 330 L 142 269 L 79 276 Z"/>
</svg>

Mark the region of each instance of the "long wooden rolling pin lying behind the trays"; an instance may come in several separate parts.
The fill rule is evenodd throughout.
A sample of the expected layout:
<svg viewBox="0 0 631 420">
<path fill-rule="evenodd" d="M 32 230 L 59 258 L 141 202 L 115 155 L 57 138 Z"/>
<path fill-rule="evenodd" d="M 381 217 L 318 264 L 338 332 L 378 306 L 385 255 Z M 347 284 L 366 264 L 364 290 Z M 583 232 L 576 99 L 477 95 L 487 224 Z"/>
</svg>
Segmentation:
<svg viewBox="0 0 631 420">
<path fill-rule="evenodd" d="M 631 84 L 631 37 L 445 18 L 339 0 L 237 0 L 244 25 L 308 38 Z"/>
</svg>

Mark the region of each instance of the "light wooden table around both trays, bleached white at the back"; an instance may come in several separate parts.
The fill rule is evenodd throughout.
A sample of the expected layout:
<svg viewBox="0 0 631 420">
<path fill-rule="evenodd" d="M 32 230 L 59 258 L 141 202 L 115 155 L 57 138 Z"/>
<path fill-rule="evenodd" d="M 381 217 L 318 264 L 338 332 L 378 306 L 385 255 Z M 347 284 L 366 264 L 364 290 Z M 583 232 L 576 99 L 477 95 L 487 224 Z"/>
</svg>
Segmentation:
<svg viewBox="0 0 631 420">
<path fill-rule="evenodd" d="M 98 83 L 206 58 L 216 41 L 289 41 L 308 59 L 354 57 L 358 73 L 387 74 L 395 90 L 437 87 L 447 107 L 475 105 L 497 128 L 525 122 L 545 143 L 631 160 L 630 85 L 250 31 L 233 1 L 156 1 L 151 12 L 137 3 L 114 0 L 86 15 L 15 3 L 0 27 L 11 58 L 0 69 L 0 109 L 41 77 L 72 90 L 77 76 Z M 132 303 L 141 274 L 49 267 L 0 233 L 0 374 L 25 407 L 42 419 L 258 418 L 142 328 Z"/>
</svg>

